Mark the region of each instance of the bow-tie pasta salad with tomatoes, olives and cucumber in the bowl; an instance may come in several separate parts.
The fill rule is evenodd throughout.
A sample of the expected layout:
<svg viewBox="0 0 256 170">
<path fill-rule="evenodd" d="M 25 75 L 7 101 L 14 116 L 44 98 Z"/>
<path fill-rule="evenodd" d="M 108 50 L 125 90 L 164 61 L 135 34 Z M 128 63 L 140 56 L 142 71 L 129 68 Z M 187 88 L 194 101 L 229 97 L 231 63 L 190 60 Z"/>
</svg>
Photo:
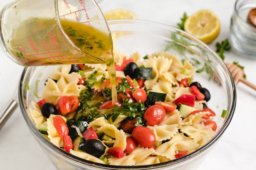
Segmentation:
<svg viewBox="0 0 256 170">
<path fill-rule="evenodd" d="M 141 60 L 143 58 L 143 60 Z M 104 64 L 60 65 L 29 112 L 52 144 L 77 157 L 119 166 L 177 159 L 206 144 L 217 128 L 210 93 L 193 82 L 188 60 L 114 50 L 118 102 Z"/>
</svg>

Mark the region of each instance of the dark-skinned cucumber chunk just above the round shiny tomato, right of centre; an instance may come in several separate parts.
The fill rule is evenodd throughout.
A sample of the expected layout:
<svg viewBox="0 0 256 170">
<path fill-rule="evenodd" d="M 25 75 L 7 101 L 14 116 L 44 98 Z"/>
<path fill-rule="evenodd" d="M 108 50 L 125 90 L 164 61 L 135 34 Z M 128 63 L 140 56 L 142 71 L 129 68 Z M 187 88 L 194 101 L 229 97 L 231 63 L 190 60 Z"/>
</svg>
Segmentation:
<svg viewBox="0 0 256 170">
<path fill-rule="evenodd" d="M 145 106 L 152 106 L 156 101 L 165 101 L 166 93 L 148 91 L 148 97 L 145 101 Z"/>
</svg>

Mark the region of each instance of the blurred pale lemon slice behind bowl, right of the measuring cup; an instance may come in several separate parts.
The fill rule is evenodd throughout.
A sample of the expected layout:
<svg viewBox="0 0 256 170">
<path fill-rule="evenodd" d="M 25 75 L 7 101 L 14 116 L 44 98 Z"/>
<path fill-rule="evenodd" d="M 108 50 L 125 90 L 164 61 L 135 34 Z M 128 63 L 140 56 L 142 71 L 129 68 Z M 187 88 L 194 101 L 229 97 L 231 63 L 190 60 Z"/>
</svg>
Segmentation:
<svg viewBox="0 0 256 170">
<path fill-rule="evenodd" d="M 129 10 L 125 9 L 115 9 L 104 13 L 106 20 L 108 19 L 136 19 L 136 15 Z"/>
</svg>

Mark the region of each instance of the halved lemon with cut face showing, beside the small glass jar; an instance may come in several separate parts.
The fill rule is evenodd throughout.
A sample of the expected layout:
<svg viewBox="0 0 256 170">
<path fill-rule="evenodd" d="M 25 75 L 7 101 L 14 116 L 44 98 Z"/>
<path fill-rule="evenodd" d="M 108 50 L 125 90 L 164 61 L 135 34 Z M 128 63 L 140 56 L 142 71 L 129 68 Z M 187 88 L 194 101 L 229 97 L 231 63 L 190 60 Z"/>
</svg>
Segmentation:
<svg viewBox="0 0 256 170">
<path fill-rule="evenodd" d="M 210 43 L 220 33 L 220 20 L 212 11 L 200 10 L 186 19 L 184 30 L 199 40 Z"/>
</svg>

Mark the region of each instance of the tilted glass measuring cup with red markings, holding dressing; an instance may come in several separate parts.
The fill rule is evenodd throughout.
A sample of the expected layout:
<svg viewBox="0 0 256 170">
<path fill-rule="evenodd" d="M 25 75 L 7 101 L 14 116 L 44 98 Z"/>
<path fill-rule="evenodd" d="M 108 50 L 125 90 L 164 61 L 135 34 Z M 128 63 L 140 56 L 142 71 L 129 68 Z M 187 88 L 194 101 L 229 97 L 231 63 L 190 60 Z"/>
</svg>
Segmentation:
<svg viewBox="0 0 256 170">
<path fill-rule="evenodd" d="M 1 11 L 1 46 L 23 66 L 105 63 L 112 39 L 94 0 L 16 0 Z"/>
</svg>

